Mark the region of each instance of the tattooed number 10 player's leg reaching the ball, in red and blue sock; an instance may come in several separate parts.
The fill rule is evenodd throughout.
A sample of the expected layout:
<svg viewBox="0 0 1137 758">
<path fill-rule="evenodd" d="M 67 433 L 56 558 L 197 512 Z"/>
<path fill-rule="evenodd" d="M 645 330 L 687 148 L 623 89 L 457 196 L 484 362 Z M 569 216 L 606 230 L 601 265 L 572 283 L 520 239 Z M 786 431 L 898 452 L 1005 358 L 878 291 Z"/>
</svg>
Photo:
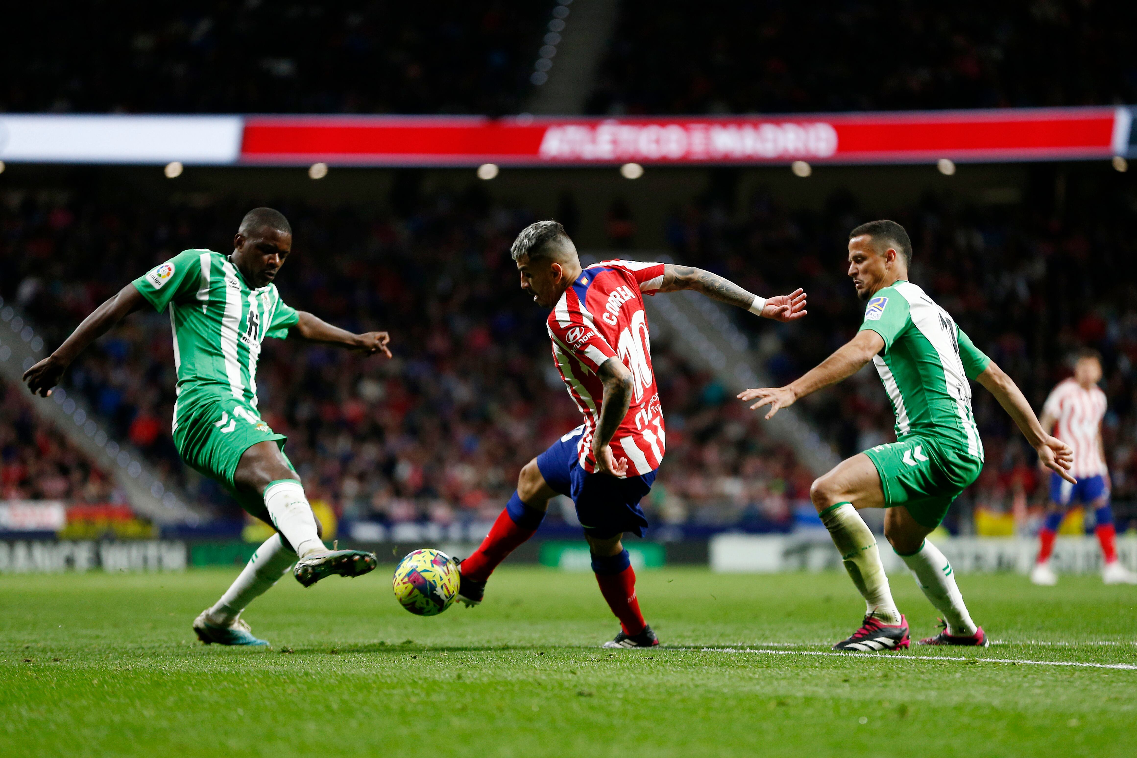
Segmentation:
<svg viewBox="0 0 1137 758">
<path fill-rule="evenodd" d="M 466 607 L 476 606 L 485 594 L 485 582 L 506 557 L 537 533 L 557 494 L 541 475 L 537 458 L 525 464 L 517 476 L 517 489 L 498 514 L 482 543 L 462 561 L 458 600 Z"/>
</svg>

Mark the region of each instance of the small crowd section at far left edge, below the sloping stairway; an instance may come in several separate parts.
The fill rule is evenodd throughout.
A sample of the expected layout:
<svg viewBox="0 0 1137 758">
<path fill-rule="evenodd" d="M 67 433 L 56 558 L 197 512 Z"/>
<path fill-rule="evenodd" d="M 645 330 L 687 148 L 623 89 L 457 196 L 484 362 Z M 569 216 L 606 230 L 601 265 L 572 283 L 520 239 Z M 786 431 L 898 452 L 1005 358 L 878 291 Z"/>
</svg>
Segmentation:
<svg viewBox="0 0 1137 758">
<path fill-rule="evenodd" d="M 111 502 L 107 474 L 32 411 L 32 395 L 0 381 L 0 500 Z"/>
</svg>

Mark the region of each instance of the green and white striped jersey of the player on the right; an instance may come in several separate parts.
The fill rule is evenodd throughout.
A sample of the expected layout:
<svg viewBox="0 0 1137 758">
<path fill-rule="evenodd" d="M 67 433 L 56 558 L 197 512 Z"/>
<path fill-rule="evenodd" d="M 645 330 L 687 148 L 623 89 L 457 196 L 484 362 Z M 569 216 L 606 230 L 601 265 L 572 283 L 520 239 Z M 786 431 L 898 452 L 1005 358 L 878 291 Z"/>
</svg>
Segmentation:
<svg viewBox="0 0 1137 758">
<path fill-rule="evenodd" d="M 927 434 L 982 460 L 968 380 L 990 360 L 952 316 L 922 289 L 901 280 L 869 300 L 861 330 L 885 340 L 872 363 L 893 401 L 896 439 Z"/>
</svg>

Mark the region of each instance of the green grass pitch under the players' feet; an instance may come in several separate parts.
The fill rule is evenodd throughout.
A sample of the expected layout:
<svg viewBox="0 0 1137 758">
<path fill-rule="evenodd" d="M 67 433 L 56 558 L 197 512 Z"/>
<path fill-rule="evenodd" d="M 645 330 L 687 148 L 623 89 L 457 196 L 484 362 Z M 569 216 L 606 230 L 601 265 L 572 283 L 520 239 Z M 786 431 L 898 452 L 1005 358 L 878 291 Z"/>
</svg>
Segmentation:
<svg viewBox="0 0 1137 758">
<path fill-rule="evenodd" d="M 391 568 L 285 577 L 257 650 L 190 631 L 235 569 L 0 576 L 0 756 L 1137 755 L 1137 588 L 962 576 L 989 649 L 858 657 L 827 652 L 863 609 L 844 575 L 645 570 L 663 647 L 608 651 L 590 574 L 505 567 L 420 618 Z"/>
</svg>

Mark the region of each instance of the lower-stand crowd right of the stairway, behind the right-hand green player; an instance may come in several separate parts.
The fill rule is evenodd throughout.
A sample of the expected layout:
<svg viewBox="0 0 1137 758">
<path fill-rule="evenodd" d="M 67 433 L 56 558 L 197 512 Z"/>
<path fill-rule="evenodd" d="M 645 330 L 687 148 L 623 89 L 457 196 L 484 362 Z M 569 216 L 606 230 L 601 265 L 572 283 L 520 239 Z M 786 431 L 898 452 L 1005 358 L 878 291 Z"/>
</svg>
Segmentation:
<svg viewBox="0 0 1137 758">
<path fill-rule="evenodd" d="M 1069 166 L 1037 167 L 1031 186 L 1037 194 L 1022 203 L 968 205 L 929 194 L 886 215 L 912 238 L 912 281 L 953 314 L 1036 410 L 1072 374 L 1078 348 L 1102 352 L 1110 403 L 1103 433 L 1119 528 L 1126 519 L 1137 527 L 1137 194 L 1123 174 Z M 1052 197 L 1051 188 L 1061 192 Z M 807 318 L 777 326 L 777 340 L 770 332 L 754 335 L 766 372 L 781 384 L 861 325 L 864 303 L 845 258 L 849 230 L 868 219 L 847 192 L 833 193 L 819 211 L 790 211 L 762 190 L 747 198 L 720 192 L 675 208 L 667 238 L 678 259 L 753 291 L 806 289 Z M 1045 505 L 1049 475 L 1038 470 L 1034 451 L 994 398 L 973 389 L 986 465 L 948 525 L 968 531 L 971 510 L 980 508 L 1014 513 L 1019 528 L 1029 531 Z M 871 366 L 799 405 L 843 457 L 895 440 L 891 408 Z"/>
</svg>

